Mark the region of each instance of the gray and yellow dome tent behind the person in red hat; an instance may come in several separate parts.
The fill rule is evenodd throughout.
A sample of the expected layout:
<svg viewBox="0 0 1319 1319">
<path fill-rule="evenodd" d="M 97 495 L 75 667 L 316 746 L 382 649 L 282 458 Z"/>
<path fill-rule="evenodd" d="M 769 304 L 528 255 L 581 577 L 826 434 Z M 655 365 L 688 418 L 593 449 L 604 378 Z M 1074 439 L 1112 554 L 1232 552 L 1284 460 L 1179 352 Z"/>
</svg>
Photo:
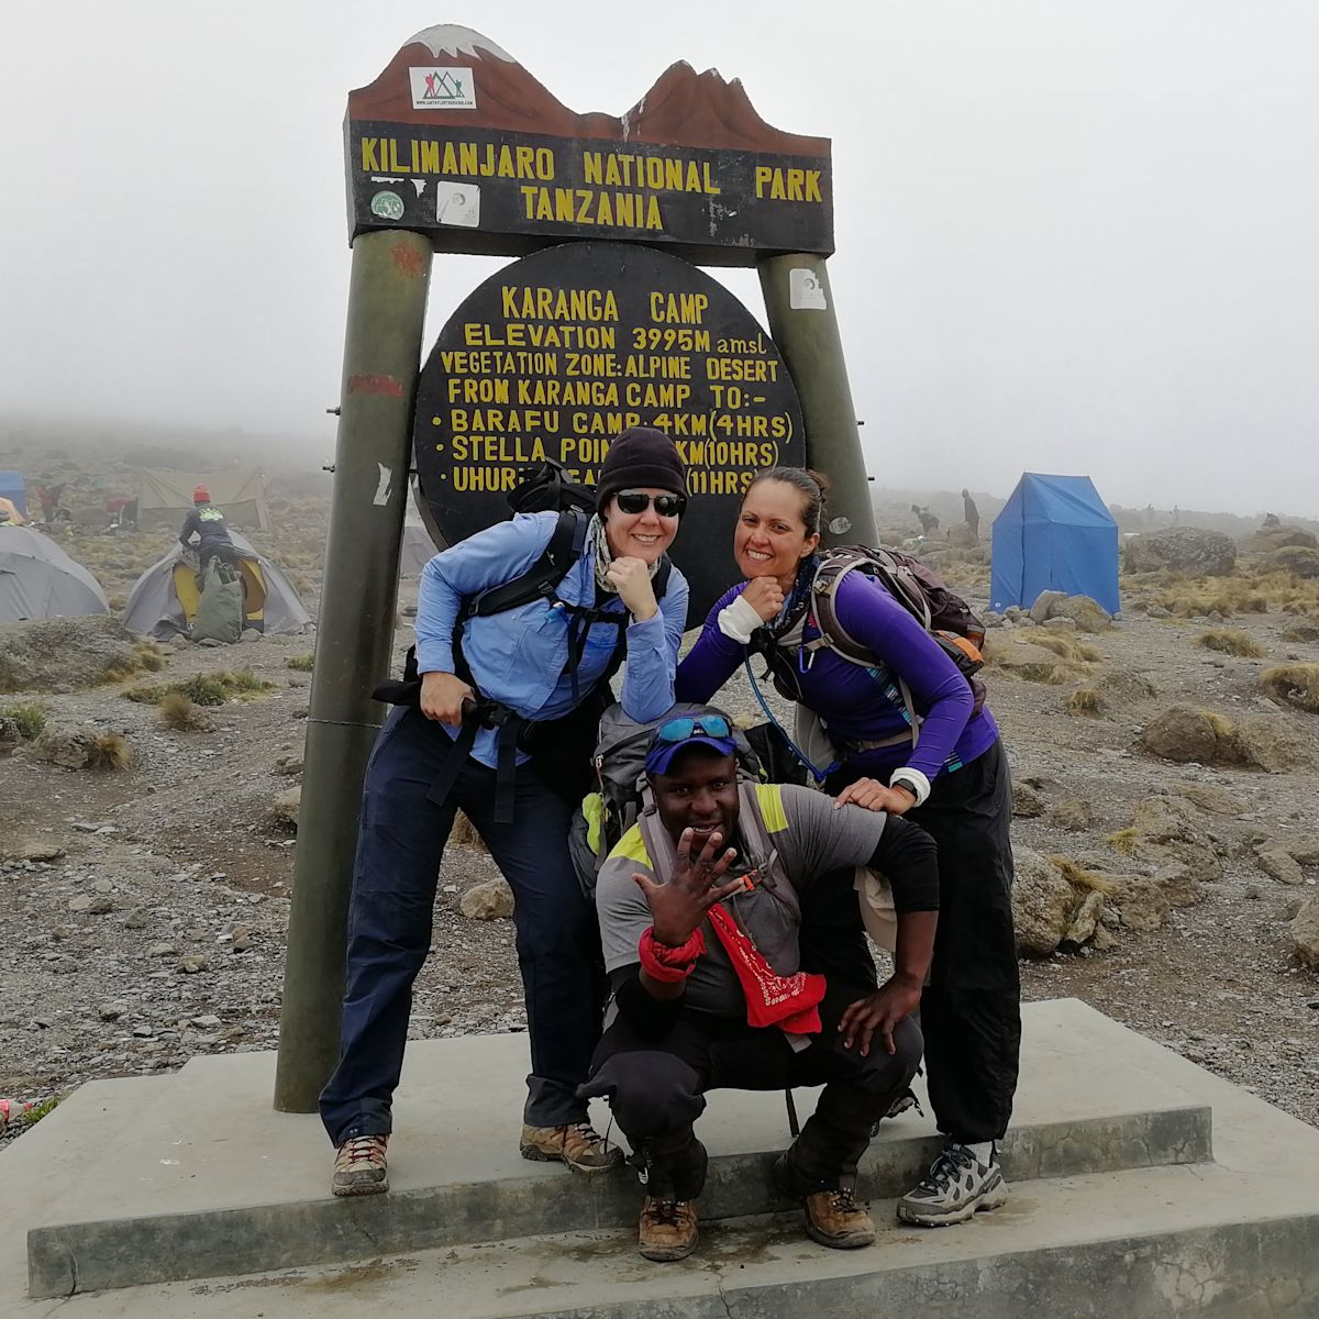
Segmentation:
<svg viewBox="0 0 1319 1319">
<path fill-rule="evenodd" d="M 3 534 L 3 533 L 0 533 Z M 239 551 L 243 578 L 243 627 L 273 634 L 297 632 L 311 621 L 289 579 L 237 532 L 230 532 Z M 129 632 L 153 637 L 186 633 L 197 617 L 195 558 L 177 541 L 133 586 L 124 611 Z"/>
</svg>

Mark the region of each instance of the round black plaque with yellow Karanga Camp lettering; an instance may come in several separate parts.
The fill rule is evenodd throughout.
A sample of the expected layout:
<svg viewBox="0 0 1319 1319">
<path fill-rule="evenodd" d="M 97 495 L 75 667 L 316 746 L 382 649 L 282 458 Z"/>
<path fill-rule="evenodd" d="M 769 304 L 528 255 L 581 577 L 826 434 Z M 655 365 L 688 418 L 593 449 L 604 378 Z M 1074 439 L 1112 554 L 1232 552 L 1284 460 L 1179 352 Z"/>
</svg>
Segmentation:
<svg viewBox="0 0 1319 1319">
<path fill-rule="evenodd" d="M 509 517 L 522 468 L 594 485 L 628 426 L 670 435 L 691 500 L 673 558 L 687 623 L 737 580 L 732 533 L 757 471 L 801 466 L 797 392 L 769 335 L 689 262 L 621 243 L 546 248 L 488 278 L 421 373 L 413 441 L 433 532 L 451 545 Z"/>
</svg>

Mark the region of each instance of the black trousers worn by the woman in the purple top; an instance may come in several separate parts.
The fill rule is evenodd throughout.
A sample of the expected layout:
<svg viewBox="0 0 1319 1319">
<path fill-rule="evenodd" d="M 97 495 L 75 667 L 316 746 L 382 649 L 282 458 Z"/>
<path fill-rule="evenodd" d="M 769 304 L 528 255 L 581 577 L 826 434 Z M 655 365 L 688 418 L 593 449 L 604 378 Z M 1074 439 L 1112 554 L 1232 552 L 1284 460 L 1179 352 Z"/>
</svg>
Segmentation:
<svg viewBox="0 0 1319 1319">
<path fill-rule="evenodd" d="M 836 795 L 865 777 L 844 766 Z M 939 1130 L 954 1140 L 1001 1140 L 1012 1117 L 1021 1055 L 1021 979 L 1012 929 L 1012 781 L 1002 743 L 934 781 L 907 811 L 939 847 L 939 927 L 921 996 L 925 1066 Z M 802 907 L 802 964 L 856 980 L 874 973 L 852 873 L 813 885 Z"/>
</svg>

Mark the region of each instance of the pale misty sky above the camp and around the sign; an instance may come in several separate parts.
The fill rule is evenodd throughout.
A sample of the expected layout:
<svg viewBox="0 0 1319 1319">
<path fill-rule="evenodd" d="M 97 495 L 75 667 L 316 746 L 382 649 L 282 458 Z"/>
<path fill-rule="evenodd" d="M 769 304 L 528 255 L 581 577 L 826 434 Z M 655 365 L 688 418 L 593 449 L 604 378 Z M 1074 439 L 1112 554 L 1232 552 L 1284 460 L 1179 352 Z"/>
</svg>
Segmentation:
<svg viewBox="0 0 1319 1319">
<path fill-rule="evenodd" d="M 5 417 L 328 452 L 347 92 L 437 22 L 578 111 L 685 58 L 834 138 L 880 485 L 1084 471 L 1128 505 L 1319 514 L 1319 7 L 1293 0 L 7 5 Z M 427 344 L 497 265 L 437 259 Z M 716 277 L 761 314 L 753 273 Z"/>
</svg>

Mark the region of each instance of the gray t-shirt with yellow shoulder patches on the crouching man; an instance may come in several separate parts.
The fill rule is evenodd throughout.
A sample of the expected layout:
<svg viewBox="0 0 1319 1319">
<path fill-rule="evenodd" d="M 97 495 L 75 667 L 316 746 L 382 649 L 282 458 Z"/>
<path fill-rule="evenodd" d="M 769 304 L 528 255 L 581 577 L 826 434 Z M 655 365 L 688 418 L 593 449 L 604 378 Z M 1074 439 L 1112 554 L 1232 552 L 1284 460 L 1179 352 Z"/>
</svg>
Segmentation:
<svg viewBox="0 0 1319 1319">
<path fill-rule="evenodd" d="M 835 809 L 832 797 L 789 783 L 757 783 L 754 793 L 769 840 L 778 849 L 783 871 L 797 892 L 830 871 L 865 865 L 880 845 L 880 835 L 888 819 L 882 811 L 869 811 L 861 806 Z M 745 810 L 745 805 L 743 809 Z M 641 960 L 637 944 L 652 925 L 645 894 L 632 878 L 637 873 L 656 878 L 641 828 L 633 826 L 600 868 L 595 890 L 604 966 L 611 972 Z M 765 888 L 736 893 L 725 898 L 723 905 L 745 927 L 752 904 L 772 909 L 769 917 L 761 913 L 760 919 L 789 921 L 795 933 L 795 907 L 789 907 Z M 745 1016 L 747 1000 L 719 936 L 708 921 L 702 921 L 700 933 L 706 938 L 706 955 L 696 962 L 695 971 L 687 979 L 687 1006 L 727 1017 Z M 795 940 L 793 946 L 795 950 Z M 774 969 L 780 975 L 798 971 L 795 951 L 789 963 L 781 959 Z"/>
</svg>

